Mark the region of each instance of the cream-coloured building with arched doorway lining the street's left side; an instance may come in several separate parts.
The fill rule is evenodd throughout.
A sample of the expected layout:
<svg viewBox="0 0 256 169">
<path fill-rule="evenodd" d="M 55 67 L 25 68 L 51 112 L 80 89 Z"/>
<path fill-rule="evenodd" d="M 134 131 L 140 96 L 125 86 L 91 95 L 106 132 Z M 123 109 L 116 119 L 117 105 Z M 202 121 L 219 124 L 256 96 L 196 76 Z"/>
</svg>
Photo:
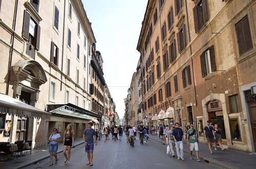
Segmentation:
<svg viewBox="0 0 256 169">
<path fill-rule="evenodd" d="M 32 140 L 40 147 L 53 128 L 62 136 L 71 124 L 81 137 L 90 120 L 101 118 L 91 111 L 89 90 L 95 42 L 80 0 L 0 1 L 0 142 Z M 10 137 L 2 125 L 8 121 Z"/>
</svg>

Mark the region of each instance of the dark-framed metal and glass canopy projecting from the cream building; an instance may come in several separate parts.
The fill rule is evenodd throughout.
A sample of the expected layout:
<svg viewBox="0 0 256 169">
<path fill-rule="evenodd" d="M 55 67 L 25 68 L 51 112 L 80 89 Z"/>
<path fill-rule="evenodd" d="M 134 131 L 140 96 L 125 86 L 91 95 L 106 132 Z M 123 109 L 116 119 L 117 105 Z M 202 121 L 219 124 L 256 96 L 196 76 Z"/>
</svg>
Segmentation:
<svg viewBox="0 0 256 169">
<path fill-rule="evenodd" d="M 70 117 L 75 117 L 75 118 L 80 118 L 80 119 L 86 119 L 86 120 L 91 120 L 93 118 L 98 118 L 101 116 L 99 114 L 96 114 L 92 111 L 80 108 L 76 105 L 73 105 L 71 103 L 68 104 L 61 104 L 61 105 L 47 105 L 47 111 L 51 112 L 52 114 L 55 115 L 65 115 L 65 116 L 70 116 Z"/>
</svg>

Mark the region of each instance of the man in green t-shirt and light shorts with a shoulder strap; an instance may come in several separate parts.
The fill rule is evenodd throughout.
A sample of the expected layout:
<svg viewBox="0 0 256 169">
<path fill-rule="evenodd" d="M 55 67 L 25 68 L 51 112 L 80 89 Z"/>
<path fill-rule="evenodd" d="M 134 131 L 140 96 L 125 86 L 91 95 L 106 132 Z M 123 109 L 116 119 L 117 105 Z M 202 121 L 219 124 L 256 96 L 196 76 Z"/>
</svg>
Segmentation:
<svg viewBox="0 0 256 169">
<path fill-rule="evenodd" d="M 194 129 L 194 125 L 190 124 L 190 128 L 187 130 L 187 146 L 190 149 L 190 160 L 193 160 L 192 153 L 195 150 L 197 155 L 197 161 L 201 161 L 199 159 L 199 149 L 197 140 L 197 131 Z"/>
</svg>

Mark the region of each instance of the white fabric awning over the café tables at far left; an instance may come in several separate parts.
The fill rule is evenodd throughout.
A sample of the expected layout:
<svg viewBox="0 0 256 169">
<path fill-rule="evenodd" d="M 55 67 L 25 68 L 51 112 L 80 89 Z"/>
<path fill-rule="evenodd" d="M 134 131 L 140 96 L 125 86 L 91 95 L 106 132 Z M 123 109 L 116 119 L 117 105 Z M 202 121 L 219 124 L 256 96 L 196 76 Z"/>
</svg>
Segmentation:
<svg viewBox="0 0 256 169">
<path fill-rule="evenodd" d="M 51 116 L 51 113 L 40 110 L 26 103 L 20 102 L 19 100 L 2 93 L 0 93 L 0 113 L 8 113 L 9 115 L 12 114 L 42 119 L 50 119 Z"/>
</svg>

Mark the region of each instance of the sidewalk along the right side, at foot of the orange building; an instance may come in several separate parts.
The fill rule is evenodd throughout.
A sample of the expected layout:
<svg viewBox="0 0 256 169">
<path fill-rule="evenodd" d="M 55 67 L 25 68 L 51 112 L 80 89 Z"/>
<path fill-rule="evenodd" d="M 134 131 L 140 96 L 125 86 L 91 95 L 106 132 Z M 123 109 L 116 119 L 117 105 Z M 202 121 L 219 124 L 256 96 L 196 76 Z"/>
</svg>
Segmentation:
<svg viewBox="0 0 256 169">
<path fill-rule="evenodd" d="M 149 135 L 150 139 L 154 139 L 160 143 L 166 144 L 166 139 L 160 139 L 157 134 Z M 199 158 L 201 161 L 209 162 L 215 165 L 218 165 L 223 168 L 255 168 L 256 166 L 256 153 L 246 153 L 237 150 L 221 149 L 214 150 L 214 154 L 210 154 L 208 151 L 208 144 L 199 143 Z M 225 147 L 224 147 L 225 148 Z M 189 154 L 189 147 L 187 146 L 186 140 L 183 143 L 183 151 L 186 154 Z M 176 152 L 175 152 L 176 154 Z M 193 152 L 193 156 L 196 153 Z M 196 158 L 194 157 L 194 160 Z M 189 160 L 189 159 L 185 159 Z"/>
</svg>

